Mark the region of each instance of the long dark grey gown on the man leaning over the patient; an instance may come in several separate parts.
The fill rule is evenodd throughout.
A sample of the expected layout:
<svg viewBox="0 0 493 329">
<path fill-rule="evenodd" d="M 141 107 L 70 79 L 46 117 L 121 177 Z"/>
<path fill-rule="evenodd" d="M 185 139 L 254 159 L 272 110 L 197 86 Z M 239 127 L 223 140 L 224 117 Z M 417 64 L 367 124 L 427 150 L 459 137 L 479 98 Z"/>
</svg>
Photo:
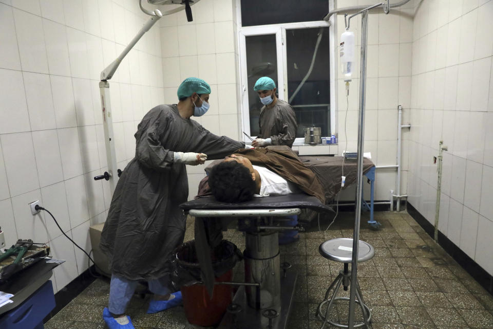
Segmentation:
<svg viewBox="0 0 493 329">
<path fill-rule="evenodd" d="M 185 215 L 178 207 L 188 198 L 186 168 L 174 152 L 220 159 L 244 143 L 208 132 L 183 119 L 174 105 L 151 109 L 139 123 L 136 156 L 118 181 L 101 236 L 111 272 L 128 280 L 169 274 L 173 250 L 183 242 Z"/>
</svg>

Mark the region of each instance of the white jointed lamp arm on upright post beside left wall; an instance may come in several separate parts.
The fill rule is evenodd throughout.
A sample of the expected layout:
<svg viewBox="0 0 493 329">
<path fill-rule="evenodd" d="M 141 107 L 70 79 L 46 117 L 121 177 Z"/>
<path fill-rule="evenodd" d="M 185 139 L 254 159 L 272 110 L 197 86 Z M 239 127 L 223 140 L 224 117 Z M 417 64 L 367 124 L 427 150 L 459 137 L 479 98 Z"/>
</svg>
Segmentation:
<svg viewBox="0 0 493 329">
<path fill-rule="evenodd" d="M 123 49 L 123 51 L 119 54 L 119 56 L 111 63 L 109 64 L 105 69 L 101 71 L 101 81 L 99 83 L 99 90 L 101 94 L 101 109 L 103 113 L 103 129 L 104 129 L 104 140 L 105 140 L 105 147 L 106 147 L 106 157 L 107 157 L 107 163 L 108 163 L 108 171 L 104 173 L 104 176 L 109 177 L 109 186 L 110 186 L 110 191 L 111 194 L 115 191 L 115 187 L 117 186 L 117 181 L 119 175 L 116 175 L 114 173 L 117 173 L 117 155 L 115 151 L 115 133 L 113 132 L 113 118 L 112 118 L 112 113 L 111 113 L 111 102 L 110 102 L 110 96 L 109 96 L 109 82 L 113 75 L 115 74 L 115 71 L 117 70 L 118 66 L 120 63 L 123 61 L 127 53 L 137 44 L 137 42 L 142 38 L 145 32 L 147 32 L 151 27 L 156 24 L 158 20 L 161 19 L 162 16 L 166 16 L 169 14 L 173 14 L 176 12 L 179 12 L 183 9 L 185 9 L 186 12 L 186 17 L 188 22 L 192 21 L 192 9 L 190 8 L 191 2 L 193 3 L 192 5 L 195 5 L 199 2 L 200 0 L 195 0 L 189 1 L 189 0 L 183 0 L 177 3 L 175 0 L 148 0 L 150 4 L 156 4 L 156 5 L 172 5 L 172 4 L 179 4 L 182 5 L 178 8 L 170 9 L 167 11 L 161 12 L 159 9 L 155 9 L 153 11 L 150 11 L 142 6 L 142 0 L 139 0 L 139 6 L 140 9 L 147 15 L 149 15 L 149 19 L 144 23 L 144 25 L 141 27 L 139 32 L 137 32 L 136 36 L 134 36 L 134 39 L 132 39 L 128 45 Z"/>
</svg>

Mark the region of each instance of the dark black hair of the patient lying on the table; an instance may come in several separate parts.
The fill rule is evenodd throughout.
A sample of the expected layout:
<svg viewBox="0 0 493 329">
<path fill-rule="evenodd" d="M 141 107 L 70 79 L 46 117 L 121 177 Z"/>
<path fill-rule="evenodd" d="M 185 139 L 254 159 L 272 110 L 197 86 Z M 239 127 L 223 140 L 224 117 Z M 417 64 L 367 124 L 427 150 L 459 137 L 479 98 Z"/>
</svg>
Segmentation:
<svg viewBox="0 0 493 329">
<path fill-rule="evenodd" d="M 250 170 L 236 161 L 224 161 L 214 166 L 208 183 L 216 200 L 221 202 L 248 201 L 255 194 L 255 181 Z"/>
</svg>

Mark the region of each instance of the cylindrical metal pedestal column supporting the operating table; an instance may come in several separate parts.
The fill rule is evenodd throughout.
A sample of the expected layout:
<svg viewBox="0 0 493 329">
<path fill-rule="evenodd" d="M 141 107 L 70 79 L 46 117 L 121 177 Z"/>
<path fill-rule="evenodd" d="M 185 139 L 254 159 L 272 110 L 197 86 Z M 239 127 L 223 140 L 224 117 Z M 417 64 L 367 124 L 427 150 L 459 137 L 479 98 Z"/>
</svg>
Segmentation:
<svg viewBox="0 0 493 329">
<path fill-rule="evenodd" d="M 280 305 L 279 243 L 277 232 L 247 233 L 244 252 L 245 281 L 260 283 L 260 308 Z M 257 304 L 256 288 L 245 286 L 248 304 Z"/>
</svg>

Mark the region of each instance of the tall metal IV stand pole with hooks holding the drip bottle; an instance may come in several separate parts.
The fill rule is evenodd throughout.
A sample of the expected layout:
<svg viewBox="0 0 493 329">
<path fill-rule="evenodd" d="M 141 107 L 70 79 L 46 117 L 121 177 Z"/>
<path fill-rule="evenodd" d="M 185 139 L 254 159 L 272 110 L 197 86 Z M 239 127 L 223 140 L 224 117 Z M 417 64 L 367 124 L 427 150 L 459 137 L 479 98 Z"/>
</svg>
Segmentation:
<svg viewBox="0 0 493 329">
<path fill-rule="evenodd" d="M 363 149 L 365 143 L 365 88 L 366 88 L 366 51 L 368 43 L 368 11 L 372 8 L 383 6 L 384 12 L 389 13 L 390 4 L 379 3 L 368 8 L 365 8 L 357 13 L 354 13 L 348 17 L 344 15 L 344 23 L 346 30 L 349 30 L 349 23 L 352 17 L 361 14 L 361 66 L 359 69 L 359 112 L 358 112 L 358 167 L 357 167 L 357 181 L 356 181 L 356 209 L 354 218 L 354 232 L 353 232 L 353 254 L 351 261 L 351 282 L 357 282 L 357 263 L 358 263 L 358 246 L 359 246 L 359 223 L 361 221 L 361 198 L 363 192 Z M 356 285 L 350 285 L 349 291 L 349 319 L 348 328 L 354 328 L 354 301 L 356 298 Z M 363 301 L 360 301 L 363 303 Z"/>
</svg>

